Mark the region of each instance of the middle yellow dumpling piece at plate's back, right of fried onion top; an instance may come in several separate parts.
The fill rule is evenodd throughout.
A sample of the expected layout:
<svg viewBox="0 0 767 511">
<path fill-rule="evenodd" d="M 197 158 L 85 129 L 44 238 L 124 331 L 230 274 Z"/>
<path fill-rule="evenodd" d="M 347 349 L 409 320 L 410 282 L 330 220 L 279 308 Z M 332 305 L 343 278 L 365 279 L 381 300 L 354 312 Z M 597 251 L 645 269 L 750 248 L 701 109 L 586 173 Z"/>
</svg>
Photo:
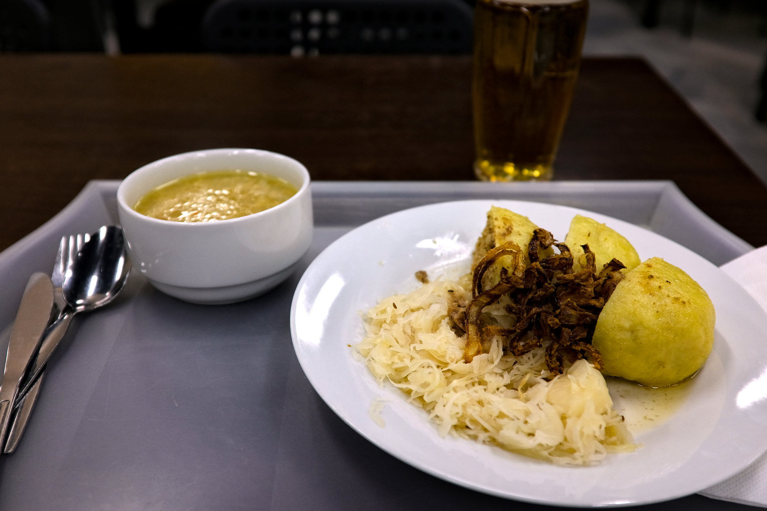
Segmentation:
<svg viewBox="0 0 767 511">
<path fill-rule="evenodd" d="M 576 215 L 570 223 L 570 230 L 565 238 L 565 245 L 569 247 L 573 255 L 574 272 L 581 271 L 581 255 L 583 255 L 581 245 L 587 244 L 591 252 L 594 252 L 597 273 L 604 263 L 610 262 L 613 258 L 626 266 L 624 273 L 634 269 L 640 263 L 637 250 L 621 234 L 593 218 Z"/>
</svg>

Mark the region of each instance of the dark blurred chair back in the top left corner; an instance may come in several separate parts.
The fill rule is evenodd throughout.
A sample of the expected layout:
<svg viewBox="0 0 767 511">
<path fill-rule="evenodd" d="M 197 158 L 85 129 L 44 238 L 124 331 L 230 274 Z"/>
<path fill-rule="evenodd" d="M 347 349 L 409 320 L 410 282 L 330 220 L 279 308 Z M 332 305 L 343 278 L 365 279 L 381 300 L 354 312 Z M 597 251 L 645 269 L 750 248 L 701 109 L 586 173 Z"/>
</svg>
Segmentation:
<svg viewBox="0 0 767 511">
<path fill-rule="evenodd" d="M 0 51 L 48 49 L 49 26 L 38 0 L 0 0 Z"/>
</svg>

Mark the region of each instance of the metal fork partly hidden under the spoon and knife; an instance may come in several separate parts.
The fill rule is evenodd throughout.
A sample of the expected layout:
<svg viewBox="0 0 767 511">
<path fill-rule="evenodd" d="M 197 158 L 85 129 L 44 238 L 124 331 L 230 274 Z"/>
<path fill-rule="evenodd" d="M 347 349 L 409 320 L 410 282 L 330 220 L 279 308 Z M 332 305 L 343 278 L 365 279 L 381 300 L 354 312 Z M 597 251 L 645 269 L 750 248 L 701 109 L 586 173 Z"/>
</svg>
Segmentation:
<svg viewBox="0 0 767 511">
<path fill-rule="evenodd" d="M 45 341 L 51 340 L 51 332 L 55 328 L 61 328 L 60 320 L 64 316 L 65 309 L 67 308 L 67 302 L 64 301 L 64 295 L 61 292 L 61 288 L 64 286 L 64 279 L 66 279 L 67 271 L 71 272 L 71 268 L 74 265 L 74 260 L 77 258 L 77 252 L 80 251 L 84 243 L 86 243 L 90 238 L 91 236 L 88 234 L 64 236 L 61 238 L 61 242 L 58 246 L 58 252 L 56 252 L 56 260 L 53 265 L 53 272 L 51 272 L 51 281 L 54 285 L 54 303 L 58 309 L 58 311 L 56 311 L 58 314 L 54 314 L 55 319 L 53 323 L 51 323 L 51 325 L 49 325 L 45 330 L 43 335 L 43 344 L 40 347 L 41 350 L 43 350 Z M 64 329 L 66 329 L 67 325 L 64 325 Z M 21 440 L 21 436 L 24 434 L 24 430 L 26 429 L 27 423 L 29 421 L 29 416 L 31 415 L 32 410 L 35 408 L 35 403 L 38 400 L 38 394 L 40 393 L 40 388 L 45 376 L 46 365 L 47 363 L 43 364 L 41 368 L 37 368 L 37 364 L 35 364 L 35 367 L 32 369 L 32 374 L 30 374 L 28 381 L 21 389 L 21 392 L 18 394 L 20 399 L 16 401 L 15 404 L 15 408 L 17 408 L 18 411 L 16 412 L 16 415 L 13 419 L 11 431 L 8 434 L 8 440 L 5 442 L 5 447 L 3 448 L 3 453 L 5 454 L 12 453 L 16 449 L 19 440 Z M 38 373 L 36 380 L 35 372 Z"/>
</svg>

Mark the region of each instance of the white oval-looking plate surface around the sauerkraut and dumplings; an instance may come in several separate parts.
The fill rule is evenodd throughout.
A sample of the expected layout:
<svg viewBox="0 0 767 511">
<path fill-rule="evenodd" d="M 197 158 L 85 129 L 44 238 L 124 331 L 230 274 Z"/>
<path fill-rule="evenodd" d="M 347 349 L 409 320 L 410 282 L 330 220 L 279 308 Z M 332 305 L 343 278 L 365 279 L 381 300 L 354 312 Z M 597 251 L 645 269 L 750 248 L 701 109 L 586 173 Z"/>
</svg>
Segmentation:
<svg viewBox="0 0 767 511">
<path fill-rule="evenodd" d="M 716 342 L 689 397 L 665 423 L 636 440 L 635 453 L 595 466 L 555 466 L 499 447 L 439 437 L 426 413 L 393 386 L 379 387 L 352 355 L 358 312 L 410 292 L 417 270 L 434 277 L 467 269 L 491 205 L 529 216 L 565 239 L 576 213 L 634 243 L 642 260 L 662 257 L 706 289 L 716 307 Z M 444 480 L 512 499 L 565 506 L 627 506 L 696 493 L 739 472 L 767 448 L 767 315 L 715 265 L 646 229 L 565 206 L 472 200 L 407 209 L 360 226 L 309 266 L 293 298 L 291 335 L 309 381 L 339 417 L 378 447 Z M 386 402 L 385 427 L 368 410 Z M 393 481 L 397 474 L 391 474 Z M 407 481 L 398 483 L 407 485 Z"/>
</svg>

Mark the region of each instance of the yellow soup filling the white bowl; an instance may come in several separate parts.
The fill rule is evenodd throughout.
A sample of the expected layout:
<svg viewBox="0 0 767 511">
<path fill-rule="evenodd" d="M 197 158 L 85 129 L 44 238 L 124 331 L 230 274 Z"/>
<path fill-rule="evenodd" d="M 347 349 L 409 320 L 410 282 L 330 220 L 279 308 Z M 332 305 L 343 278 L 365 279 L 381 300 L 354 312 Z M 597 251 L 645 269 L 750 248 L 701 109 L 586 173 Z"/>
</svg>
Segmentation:
<svg viewBox="0 0 767 511">
<path fill-rule="evenodd" d="M 133 209 L 171 222 L 212 222 L 258 213 L 284 203 L 296 192 L 291 183 L 269 174 L 219 170 L 157 186 Z"/>
</svg>

